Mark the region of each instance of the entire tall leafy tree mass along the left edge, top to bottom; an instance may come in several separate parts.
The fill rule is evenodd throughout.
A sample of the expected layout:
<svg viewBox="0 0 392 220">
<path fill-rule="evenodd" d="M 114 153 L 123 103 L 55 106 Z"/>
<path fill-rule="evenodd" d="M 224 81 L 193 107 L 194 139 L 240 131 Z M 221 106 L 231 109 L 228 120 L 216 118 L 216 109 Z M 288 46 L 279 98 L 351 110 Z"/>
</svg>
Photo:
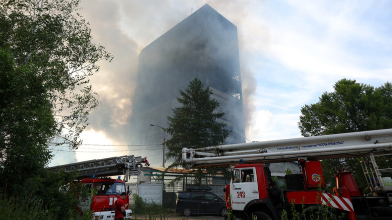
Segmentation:
<svg viewBox="0 0 392 220">
<path fill-rule="evenodd" d="M 49 146 L 56 137 L 58 145 L 80 145 L 87 115 L 98 105 L 89 76 L 99 60 L 112 59 L 91 42 L 79 2 L 0 1 L 0 188 L 32 193 L 48 205 L 55 198 L 40 192 L 51 181 L 72 180 L 46 172 Z"/>
</svg>

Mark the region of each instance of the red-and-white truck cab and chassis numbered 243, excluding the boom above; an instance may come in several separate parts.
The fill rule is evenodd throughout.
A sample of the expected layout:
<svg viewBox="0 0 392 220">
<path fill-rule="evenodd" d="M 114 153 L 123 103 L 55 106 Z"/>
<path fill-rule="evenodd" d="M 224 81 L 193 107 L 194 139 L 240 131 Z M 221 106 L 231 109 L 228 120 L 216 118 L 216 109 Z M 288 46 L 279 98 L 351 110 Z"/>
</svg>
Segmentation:
<svg viewBox="0 0 392 220">
<path fill-rule="evenodd" d="M 340 170 L 335 175 L 337 187 L 329 193 L 325 191 L 321 162 L 302 160 L 299 163 L 302 174 L 285 176 L 284 200 L 268 166 L 260 163 L 234 166 L 232 179 L 224 189 L 226 205 L 234 216 L 243 219 L 252 219 L 252 215 L 262 220 L 281 219 L 283 210 L 290 215 L 295 210 L 301 219 L 312 219 L 310 215 L 321 215 L 317 213 L 321 208 L 327 219 L 342 216 L 343 219 L 391 219 L 390 191 L 364 196 L 351 172 Z"/>
</svg>

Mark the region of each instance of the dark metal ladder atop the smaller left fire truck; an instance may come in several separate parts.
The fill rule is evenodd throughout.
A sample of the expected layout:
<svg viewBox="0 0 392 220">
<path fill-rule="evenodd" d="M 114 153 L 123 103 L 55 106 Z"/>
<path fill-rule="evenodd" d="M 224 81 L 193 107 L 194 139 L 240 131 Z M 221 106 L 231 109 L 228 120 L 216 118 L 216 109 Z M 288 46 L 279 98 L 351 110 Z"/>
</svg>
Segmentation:
<svg viewBox="0 0 392 220">
<path fill-rule="evenodd" d="M 91 178 L 93 175 L 95 177 L 124 175 L 124 182 L 126 182 L 129 176 L 140 174 L 143 163 L 149 165 L 147 157 L 124 155 L 52 166 L 48 169 L 62 168 L 66 172 L 78 171 L 77 179 Z"/>
</svg>

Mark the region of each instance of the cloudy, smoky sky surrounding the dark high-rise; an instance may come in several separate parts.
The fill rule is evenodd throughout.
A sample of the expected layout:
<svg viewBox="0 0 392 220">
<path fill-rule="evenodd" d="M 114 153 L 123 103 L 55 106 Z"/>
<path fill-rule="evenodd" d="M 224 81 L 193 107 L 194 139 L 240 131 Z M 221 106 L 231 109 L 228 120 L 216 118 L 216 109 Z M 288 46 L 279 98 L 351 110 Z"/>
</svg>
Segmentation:
<svg viewBox="0 0 392 220">
<path fill-rule="evenodd" d="M 206 3 L 238 28 L 251 141 L 300 137 L 301 107 L 342 78 L 375 87 L 392 81 L 391 1 L 82 0 L 93 42 L 114 59 L 98 63 L 90 78 L 100 105 L 89 115 L 83 145 L 76 152 L 57 147 L 49 165 L 132 154 L 125 145 L 138 55 Z"/>
</svg>

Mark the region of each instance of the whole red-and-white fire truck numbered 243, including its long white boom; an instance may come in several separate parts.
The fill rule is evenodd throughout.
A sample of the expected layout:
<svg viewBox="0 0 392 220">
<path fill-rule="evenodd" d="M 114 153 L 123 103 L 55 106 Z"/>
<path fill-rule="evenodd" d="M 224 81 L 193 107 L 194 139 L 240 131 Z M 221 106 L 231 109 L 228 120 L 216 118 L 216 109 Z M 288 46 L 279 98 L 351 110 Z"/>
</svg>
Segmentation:
<svg viewBox="0 0 392 220">
<path fill-rule="evenodd" d="M 392 168 L 378 167 L 375 159 L 381 155 L 391 159 L 392 129 L 185 147 L 181 153 L 183 161 L 193 167 L 234 165 L 224 191 L 228 209 L 238 218 L 392 219 L 392 180 L 382 176 Z M 361 165 L 371 193 L 364 195 L 352 172 L 344 169 L 334 175 L 333 192 L 325 190 L 320 160 L 364 156 Z M 266 163 L 290 161 L 297 161 L 302 173 L 285 175 L 287 189 L 282 197 Z"/>
</svg>

